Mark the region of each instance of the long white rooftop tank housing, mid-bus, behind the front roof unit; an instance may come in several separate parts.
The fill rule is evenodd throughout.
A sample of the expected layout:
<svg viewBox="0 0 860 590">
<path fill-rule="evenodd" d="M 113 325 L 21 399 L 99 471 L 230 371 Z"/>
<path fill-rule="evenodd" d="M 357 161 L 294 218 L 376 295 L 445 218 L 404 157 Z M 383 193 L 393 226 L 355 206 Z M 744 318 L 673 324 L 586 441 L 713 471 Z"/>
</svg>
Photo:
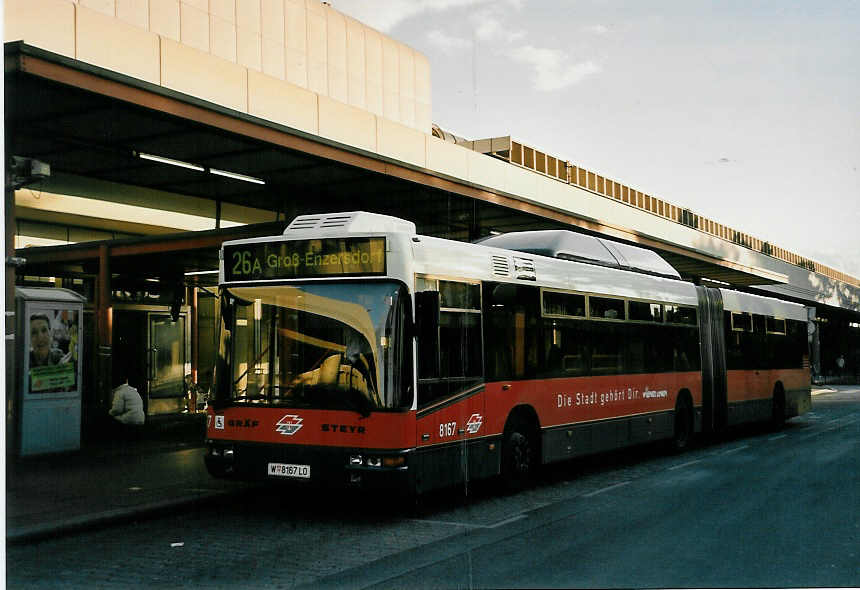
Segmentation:
<svg viewBox="0 0 860 590">
<path fill-rule="evenodd" d="M 527 252 L 538 256 L 573 260 L 673 279 L 681 278 L 678 271 L 656 252 L 568 230 L 511 232 L 490 236 L 479 242 L 484 246 Z"/>
</svg>

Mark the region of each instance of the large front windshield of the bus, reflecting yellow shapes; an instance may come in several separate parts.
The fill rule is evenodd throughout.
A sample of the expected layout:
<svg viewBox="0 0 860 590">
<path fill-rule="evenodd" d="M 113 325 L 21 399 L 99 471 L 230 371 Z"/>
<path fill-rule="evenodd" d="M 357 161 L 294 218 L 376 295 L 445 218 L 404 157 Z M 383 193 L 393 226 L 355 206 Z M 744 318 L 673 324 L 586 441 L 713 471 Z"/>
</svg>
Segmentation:
<svg viewBox="0 0 860 590">
<path fill-rule="evenodd" d="M 408 299 L 394 282 L 223 289 L 216 403 L 411 408 Z"/>
</svg>

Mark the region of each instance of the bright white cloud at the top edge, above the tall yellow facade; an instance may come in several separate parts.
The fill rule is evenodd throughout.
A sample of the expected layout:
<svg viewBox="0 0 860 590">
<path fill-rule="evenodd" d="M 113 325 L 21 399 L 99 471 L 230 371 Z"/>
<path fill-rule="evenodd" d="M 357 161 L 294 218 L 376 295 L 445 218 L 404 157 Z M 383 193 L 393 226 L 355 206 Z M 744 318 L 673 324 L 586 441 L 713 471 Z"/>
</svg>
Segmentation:
<svg viewBox="0 0 860 590">
<path fill-rule="evenodd" d="M 522 0 L 504 0 L 519 8 Z M 445 12 L 455 8 L 495 5 L 494 0 L 332 0 L 332 7 L 383 33 L 390 32 L 401 22 L 429 12 Z"/>
</svg>

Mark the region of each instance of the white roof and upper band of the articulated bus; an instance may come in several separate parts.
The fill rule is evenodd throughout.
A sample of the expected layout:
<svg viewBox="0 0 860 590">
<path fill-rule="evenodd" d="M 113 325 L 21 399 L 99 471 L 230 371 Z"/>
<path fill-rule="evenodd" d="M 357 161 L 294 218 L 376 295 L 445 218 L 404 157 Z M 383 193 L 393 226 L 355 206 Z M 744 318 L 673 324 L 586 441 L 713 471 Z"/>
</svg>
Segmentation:
<svg viewBox="0 0 860 590">
<path fill-rule="evenodd" d="M 224 244 L 384 234 L 411 238 L 414 271 L 418 274 L 698 305 L 695 285 L 680 280 L 677 271 L 658 254 L 566 230 L 515 232 L 468 243 L 417 235 L 414 223 L 397 217 L 349 211 L 300 215 L 281 236 Z M 720 291 L 729 311 L 807 319 L 807 308 L 803 305 L 729 289 Z"/>
</svg>

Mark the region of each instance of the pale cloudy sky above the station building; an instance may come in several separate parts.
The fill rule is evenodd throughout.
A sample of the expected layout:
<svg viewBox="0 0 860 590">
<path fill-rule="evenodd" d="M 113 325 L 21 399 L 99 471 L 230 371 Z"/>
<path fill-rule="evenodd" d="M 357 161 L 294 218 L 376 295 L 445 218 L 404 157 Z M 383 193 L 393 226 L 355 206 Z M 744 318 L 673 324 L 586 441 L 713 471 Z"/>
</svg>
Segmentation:
<svg viewBox="0 0 860 590">
<path fill-rule="evenodd" d="M 331 0 L 510 135 L 860 277 L 860 0 Z"/>
</svg>

